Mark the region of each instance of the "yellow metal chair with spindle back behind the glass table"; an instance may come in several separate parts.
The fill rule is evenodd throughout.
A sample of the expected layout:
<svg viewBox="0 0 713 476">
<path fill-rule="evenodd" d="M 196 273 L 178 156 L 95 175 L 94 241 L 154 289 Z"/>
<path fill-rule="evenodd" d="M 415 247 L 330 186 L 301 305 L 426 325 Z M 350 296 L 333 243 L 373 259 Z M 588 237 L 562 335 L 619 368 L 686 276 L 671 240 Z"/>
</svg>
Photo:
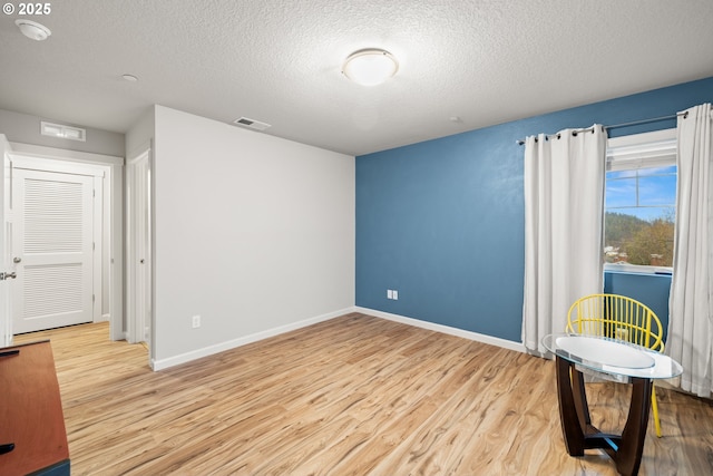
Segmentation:
<svg viewBox="0 0 713 476">
<path fill-rule="evenodd" d="M 567 332 L 603 336 L 664 351 L 658 317 L 645 304 L 624 295 L 589 294 L 578 299 L 567 313 Z M 661 438 L 656 389 L 653 387 L 651 405 L 656 436 Z"/>
</svg>

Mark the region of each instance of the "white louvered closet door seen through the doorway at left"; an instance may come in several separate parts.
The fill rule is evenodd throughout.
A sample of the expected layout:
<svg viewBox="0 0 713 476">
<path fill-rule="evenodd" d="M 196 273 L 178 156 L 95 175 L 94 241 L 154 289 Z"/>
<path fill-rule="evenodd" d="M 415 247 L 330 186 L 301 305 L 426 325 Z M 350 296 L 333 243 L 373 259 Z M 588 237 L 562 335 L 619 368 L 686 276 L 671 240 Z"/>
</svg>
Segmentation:
<svg viewBox="0 0 713 476">
<path fill-rule="evenodd" d="M 13 333 L 91 321 L 92 184 L 85 175 L 13 171 Z"/>
</svg>

